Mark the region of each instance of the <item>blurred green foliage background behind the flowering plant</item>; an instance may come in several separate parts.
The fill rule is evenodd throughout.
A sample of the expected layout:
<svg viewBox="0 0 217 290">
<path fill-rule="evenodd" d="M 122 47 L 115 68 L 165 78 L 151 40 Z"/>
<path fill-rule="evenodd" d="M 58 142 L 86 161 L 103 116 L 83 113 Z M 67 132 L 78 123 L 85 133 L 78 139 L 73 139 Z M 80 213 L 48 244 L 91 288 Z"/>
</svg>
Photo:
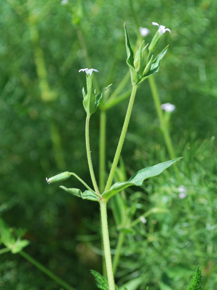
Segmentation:
<svg viewBox="0 0 217 290">
<path fill-rule="evenodd" d="M 155 21 L 172 31 L 157 48 L 170 44 L 155 81 L 161 103 L 176 106 L 170 134 L 184 159 L 178 163 L 181 179 L 170 168 L 126 192 L 129 204 L 138 201 L 136 217 L 153 206 L 169 212 L 150 215 L 127 233 L 116 282 L 140 278 L 141 290 L 181 290 L 201 264 L 203 289 L 216 289 L 217 2 L 2 0 L 0 10 L 0 214 L 8 226 L 26 229 L 25 251 L 76 289 L 96 289 L 90 269 L 102 273 L 98 204 L 63 192 L 60 184 L 48 186 L 45 177 L 67 170 L 91 185 L 85 74 L 78 70 L 98 69 L 99 89 L 113 83 L 111 93 L 128 71 L 124 22 L 135 48 L 137 28 L 150 30 L 150 43 Z M 129 80 L 123 92 L 130 88 Z M 110 162 L 127 104 L 128 99 L 108 110 Z M 90 133 L 98 178 L 99 110 Z M 138 89 L 122 157 L 127 177 L 169 159 L 148 81 Z M 83 189 L 73 177 L 64 185 Z M 180 185 L 187 188 L 184 199 Z M 110 209 L 108 215 L 115 249 Z M 1 254 L 0 261 L 1 289 L 60 289 L 19 254 Z"/>
</svg>

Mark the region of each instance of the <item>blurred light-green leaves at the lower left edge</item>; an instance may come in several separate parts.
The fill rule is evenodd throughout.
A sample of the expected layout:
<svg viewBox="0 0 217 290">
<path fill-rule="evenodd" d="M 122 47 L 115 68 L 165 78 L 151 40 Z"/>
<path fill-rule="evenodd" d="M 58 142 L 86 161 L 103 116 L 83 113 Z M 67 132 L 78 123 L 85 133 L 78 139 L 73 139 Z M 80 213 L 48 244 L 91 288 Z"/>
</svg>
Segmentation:
<svg viewBox="0 0 217 290">
<path fill-rule="evenodd" d="M 0 218 L 0 237 L 1 242 L 11 250 L 13 254 L 19 253 L 23 248 L 28 246 L 30 243 L 28 240 L 21 240 L 18 238 L 15 240 L 12 235 L 9 227 L 5 224 L 5 222 Z"/>
</svg>

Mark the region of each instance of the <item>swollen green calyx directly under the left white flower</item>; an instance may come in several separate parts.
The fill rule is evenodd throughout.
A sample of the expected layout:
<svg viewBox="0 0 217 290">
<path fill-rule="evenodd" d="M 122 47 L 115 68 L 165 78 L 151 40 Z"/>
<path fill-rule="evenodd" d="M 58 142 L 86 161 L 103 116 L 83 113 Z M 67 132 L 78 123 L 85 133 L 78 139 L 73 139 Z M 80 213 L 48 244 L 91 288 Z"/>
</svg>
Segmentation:
<svg viewBox="0 0 217 290">
<path fill-rule="evenodd" d="M 96 100 L 96 95 L 93 86 L 93 74 L 91 75 L 91 77 L 89 74 L 87 74 L 86 78 L 87 78 L 87 95 L 83 99 L 83 105 L 87 115 L 91 115 L 95 111 L 95 100 Z"/>
</svg>

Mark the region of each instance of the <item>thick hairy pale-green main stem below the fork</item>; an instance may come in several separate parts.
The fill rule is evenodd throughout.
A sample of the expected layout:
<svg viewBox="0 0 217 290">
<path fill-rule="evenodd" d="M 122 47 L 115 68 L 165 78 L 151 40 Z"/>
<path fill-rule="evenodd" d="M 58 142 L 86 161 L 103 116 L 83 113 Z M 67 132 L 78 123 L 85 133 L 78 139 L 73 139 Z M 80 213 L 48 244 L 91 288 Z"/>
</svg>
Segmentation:
<svg viewBox="0 0 217 290">
<path fill-rule="evenodd" d="M 109 287 L 109 290 L 115 290 L 110 243 L 109 243 L 109 236 L 108 236 L 108 222 L 107 222 L 107 211 L 106 211 L 105 201 L 100 201 L 100 212 L 101 212 L 101 223 L 102 223 L 102 237 L 103 237 L 104 253 L 105 253 L 105 260 L 106 260 L 106 270 L 107 270 L 107 277 L 108 277 L 108 287 Z"/>
</svg>

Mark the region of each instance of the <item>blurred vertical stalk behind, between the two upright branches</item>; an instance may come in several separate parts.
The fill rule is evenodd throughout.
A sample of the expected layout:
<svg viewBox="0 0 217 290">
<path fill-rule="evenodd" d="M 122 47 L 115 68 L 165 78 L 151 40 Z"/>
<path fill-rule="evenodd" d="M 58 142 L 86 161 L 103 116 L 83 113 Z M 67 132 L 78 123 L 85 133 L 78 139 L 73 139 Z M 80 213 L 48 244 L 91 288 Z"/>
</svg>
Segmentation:
<svg viewBox="0 0 217 290">
<path fill-rule="evenodd" d="M 106 164 L 106 112 L 100 111 L 100 193 L 103 193 L 105 188 L 105 164 Z"/>
</svg>

